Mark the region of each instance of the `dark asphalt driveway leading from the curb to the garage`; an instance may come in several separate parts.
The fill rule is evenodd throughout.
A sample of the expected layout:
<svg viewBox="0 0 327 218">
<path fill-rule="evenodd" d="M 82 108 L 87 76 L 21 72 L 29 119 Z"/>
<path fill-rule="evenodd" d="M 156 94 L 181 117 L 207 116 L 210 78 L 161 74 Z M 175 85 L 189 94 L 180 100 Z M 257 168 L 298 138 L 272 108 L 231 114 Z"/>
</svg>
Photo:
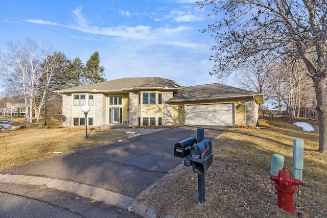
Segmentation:
<svg viewBox="0 0 327 218">
<path fill-rule="evenodd" d="M 183 162 L 183 159 L 174 157 L 174 144 L 191 136 L 197 137 L 197 128 L 165 129 L 0 173 L 76 182 L 134 199 Z M 206 126 L 204 136 L 213 139 L 226 129 Z"/>
</svg>

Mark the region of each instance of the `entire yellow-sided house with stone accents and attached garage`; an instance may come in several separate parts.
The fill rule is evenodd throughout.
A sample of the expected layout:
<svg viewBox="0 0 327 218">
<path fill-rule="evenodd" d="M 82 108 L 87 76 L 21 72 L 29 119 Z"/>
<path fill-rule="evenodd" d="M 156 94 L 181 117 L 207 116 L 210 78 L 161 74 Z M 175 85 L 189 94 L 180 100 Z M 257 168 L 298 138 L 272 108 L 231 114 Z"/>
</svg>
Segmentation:
<svg viewBox="0 0 327 218">
<path fill-rule="evenodd" d="M 65 127 L 88 125 L 255 125 L 263 95 L 222 84 L 184 87 L 159 77 L 123 78 L 57 90 Z"/>
</svg>

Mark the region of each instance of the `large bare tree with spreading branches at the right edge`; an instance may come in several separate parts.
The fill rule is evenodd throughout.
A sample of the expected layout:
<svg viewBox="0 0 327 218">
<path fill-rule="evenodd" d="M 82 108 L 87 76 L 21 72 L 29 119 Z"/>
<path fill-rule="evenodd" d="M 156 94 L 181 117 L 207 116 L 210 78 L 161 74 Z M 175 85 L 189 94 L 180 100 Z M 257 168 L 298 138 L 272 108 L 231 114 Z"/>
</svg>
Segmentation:
<svg viewBox="0 0 327 218">
<path fill-rule="evenodd" d="M 217 41 L 211 58 L 214 72 L 226 74 L 257 63 L 282 60 L 290 54 L 306 65 L 315 86 L 319 119 L 319 149 L 327 153 L 327 4 L 324 0 L 205 0 L 213 16 L 209 25 Z M 304 71 L 303 71 L 304 72 Z"/>
</svg>

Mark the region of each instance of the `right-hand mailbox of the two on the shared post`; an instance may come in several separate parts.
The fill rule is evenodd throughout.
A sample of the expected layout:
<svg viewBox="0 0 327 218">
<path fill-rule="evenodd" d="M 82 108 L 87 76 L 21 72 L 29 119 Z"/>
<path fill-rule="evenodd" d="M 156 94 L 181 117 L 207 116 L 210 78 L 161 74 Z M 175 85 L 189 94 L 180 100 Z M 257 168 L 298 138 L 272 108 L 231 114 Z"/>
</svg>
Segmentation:
<svg viewBox="0 0 327 218">
<path fill-rule="evenodd" d="M 204 139 L 197 143 L 191 150 L 191 162 L 193 171 L 198 174 L 204 172 L 213 163 L 213 146 L 209 139 Z"/>
</svg>

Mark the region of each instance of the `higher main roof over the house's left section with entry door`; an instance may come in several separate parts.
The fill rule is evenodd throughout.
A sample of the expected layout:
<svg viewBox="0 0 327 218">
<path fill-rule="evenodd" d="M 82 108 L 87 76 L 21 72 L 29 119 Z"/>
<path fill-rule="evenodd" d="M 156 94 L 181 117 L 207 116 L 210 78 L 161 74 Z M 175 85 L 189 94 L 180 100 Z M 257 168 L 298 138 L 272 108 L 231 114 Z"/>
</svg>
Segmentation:
<svg viewBox="0 0 327 218">
<path fill-rule="evenodd" d="M 109 92 L 138 89 L 176 89 L 177 87 L 180 87 L 180 85 L 173 80 L 168 80 L 160 77 L 141 77 L 109 80 L 101 83 L 93 83 L 84 86 L 56 90 L 56 92 Z"/>
</svg>

